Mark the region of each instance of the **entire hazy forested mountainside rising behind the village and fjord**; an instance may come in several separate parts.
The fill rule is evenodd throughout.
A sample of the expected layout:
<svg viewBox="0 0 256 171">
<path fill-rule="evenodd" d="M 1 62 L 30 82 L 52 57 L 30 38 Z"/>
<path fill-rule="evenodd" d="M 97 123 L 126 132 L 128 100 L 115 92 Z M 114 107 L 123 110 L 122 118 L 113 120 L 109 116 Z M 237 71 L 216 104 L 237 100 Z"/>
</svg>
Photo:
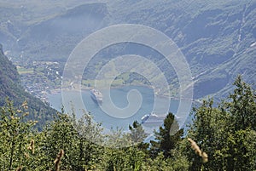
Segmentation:
<svg viewBox="0 0 256 171">
<path fill-rule="evenodd" d="M 194 78 L 195 99 L 209 94 L 219 98 L 230 91 L 238 74 L 243 74 L 247 83 L 256 81 L 255 7 L 255 1 L 240 0 L 84 4 L 55 1 L 52 5 L 3 2 L 1 14 L 5 17 L 1 18 L 0 35 L 4 46 L 11 51 L 9 54 L 14 54 L 13 60 L 20 60 L 22 52 L 23 60 L 65 63 L 77 43 L 102 27 L 125 23 L 150 26 L 171 37 L 182 50 Z M 129 48 L 124 44 L 111 52 L 118 55 L 123 49 L 126 54 L 142 54 L 141 48 Z M 149 54 L 148 58 L 155 59 L 155 55 Z M 106 56 L 108 53 L 99 59 L 108 61 Z M 99 60 L 98 64 L 101 62 Z M 166 66 L 165 60 L 157 64 L 171 72 L 169 80 L 175 80 L 177 76 L 172 66 Z M 92 66 L 100 68 L 96 63 Z M 88 72 L 92 71 L 93 68 Z"/>
</svg>

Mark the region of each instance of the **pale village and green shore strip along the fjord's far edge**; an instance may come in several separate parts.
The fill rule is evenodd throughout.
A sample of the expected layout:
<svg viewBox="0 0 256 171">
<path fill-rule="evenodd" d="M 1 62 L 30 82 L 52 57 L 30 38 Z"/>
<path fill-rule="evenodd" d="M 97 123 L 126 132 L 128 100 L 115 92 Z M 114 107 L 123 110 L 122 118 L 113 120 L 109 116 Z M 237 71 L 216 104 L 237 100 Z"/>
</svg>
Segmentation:
<svg viewBox="0 0 256 171">
<path fill-rule="evenodd" d="M 74 91 L 74 90 L 90 90 L 95 88 L 93 85 L 95 81 L 85 80 L 82 83 L 70 83 L 69 85 L 61 85 L 61 65 L 55 61 L 33 61 L 31 64 L 15 64 L 18 72 L 20 73 L 21 84 L 26 89 L 26 92 L 38 97 L 45 103 L 48 103 L 48 97 L 50 94 L 61 93 L 62 90 Z M 101 83 L 100 83 L 101 84 Z M 131 86 L 146 86 L 148 88 L 154 88 L 151 85 L 145 85 L 143 83 L 129 83 L 124 84 L 121 80 L 113 82 L 112 88 L 120 88 L 124 85 Z M 159 88 L 154 88 L 154 94 L 174 100 L 179 100 L 177 94 L 161 94 Z M 193 100 L 200 102 L 199 100 Z"/>
</svg>

